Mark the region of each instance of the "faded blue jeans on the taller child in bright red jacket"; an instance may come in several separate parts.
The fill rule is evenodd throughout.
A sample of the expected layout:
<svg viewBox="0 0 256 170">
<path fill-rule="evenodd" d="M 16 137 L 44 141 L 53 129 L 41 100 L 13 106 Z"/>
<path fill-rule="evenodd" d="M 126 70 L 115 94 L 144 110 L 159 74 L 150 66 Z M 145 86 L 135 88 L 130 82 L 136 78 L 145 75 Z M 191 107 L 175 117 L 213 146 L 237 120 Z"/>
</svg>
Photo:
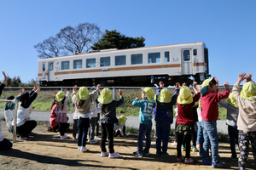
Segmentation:
<svg viewBox="0 0 256 170">
<path fill-rule="evenodd" d="M 212 162 L 218 162 L 218 133 L 216 121 L 201 120 L 201 127 L 203 128 L 204 144 L 203 144 L 203 159 L 210 159 L 209 144 L 211 144 Z"/>
</svg>

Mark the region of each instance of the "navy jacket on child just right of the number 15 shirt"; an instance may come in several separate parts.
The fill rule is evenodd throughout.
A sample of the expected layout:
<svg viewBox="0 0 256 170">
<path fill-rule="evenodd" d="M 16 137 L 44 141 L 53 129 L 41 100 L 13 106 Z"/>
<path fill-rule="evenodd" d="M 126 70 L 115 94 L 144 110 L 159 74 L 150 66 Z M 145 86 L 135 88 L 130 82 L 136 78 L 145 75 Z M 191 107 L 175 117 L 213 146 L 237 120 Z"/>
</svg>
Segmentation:
<svg viewBox="0 0 256 170">
<path fill-rule="evenodd" d="M 175 90 L 175 93 L 172 96 L 171 102 L 169 103 L 161 103 L 157 100 L 160 91 L 162 88 L 157 88 L 156 91 L 156 114 L 155 114 L 155 122 L 164 122 L 172 124 L 173 122 L 173 108 L 172 106 L 177 102 L 177 94 L 179 93 L 179 89 Z"/>
</svg>

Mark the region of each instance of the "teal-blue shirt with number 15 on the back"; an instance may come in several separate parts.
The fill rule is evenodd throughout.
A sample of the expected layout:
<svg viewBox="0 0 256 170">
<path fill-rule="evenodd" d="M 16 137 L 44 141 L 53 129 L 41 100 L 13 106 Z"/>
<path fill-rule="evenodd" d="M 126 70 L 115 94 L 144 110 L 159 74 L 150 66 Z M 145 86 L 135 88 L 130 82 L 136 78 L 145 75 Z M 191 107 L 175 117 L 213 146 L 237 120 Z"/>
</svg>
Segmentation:
<svg viewBox="0 0 256 170">
<path fill-rule="evenodd" d="M 153 103 L 148 100 L 138 101 L 135 99 L 132 102 L 133 106 L 140 107 L 140 123 L 151 122 L 152 120 L 152 111 L 155 107 L 155 101 L 153 99 Z"/>
</svg>

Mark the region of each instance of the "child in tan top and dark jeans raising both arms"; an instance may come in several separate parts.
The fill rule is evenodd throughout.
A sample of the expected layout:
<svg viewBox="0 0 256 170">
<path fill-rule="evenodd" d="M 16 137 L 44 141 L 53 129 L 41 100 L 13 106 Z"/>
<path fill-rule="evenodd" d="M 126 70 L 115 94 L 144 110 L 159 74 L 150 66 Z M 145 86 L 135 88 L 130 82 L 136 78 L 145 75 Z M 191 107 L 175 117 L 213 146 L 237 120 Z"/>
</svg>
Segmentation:
<svg viewBox="0 0 256 170">
<path fill-rule="evenodd" d="M 86 148 L 86 138 L 88 133 L 88 128 L 90 127 L 90 103 L 93 102 L 97 93 L 99 92 L 101 85 L 98 84 L 96 90 L 92 93 L 88 93 L 88 89 L 85 87 L 79 88 L 77 93 L 77 85 L 73 87 L 72 99 L 75 104 L 76 113 L 79 114 L 78 120 L 78 150 L 85 152 Z"/>
</svg>

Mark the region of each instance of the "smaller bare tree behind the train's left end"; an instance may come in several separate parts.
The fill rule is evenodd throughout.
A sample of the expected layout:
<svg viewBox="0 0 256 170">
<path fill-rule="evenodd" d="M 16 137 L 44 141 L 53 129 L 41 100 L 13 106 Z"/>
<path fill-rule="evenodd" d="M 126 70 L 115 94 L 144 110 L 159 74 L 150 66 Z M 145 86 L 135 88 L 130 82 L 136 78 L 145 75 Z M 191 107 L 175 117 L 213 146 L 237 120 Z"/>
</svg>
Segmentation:
<svg viewBox="0 0 256 170">
<path fill-rule="evenodd" d="M 57 37 L 49 37 L 42 43 L 34 46 L 38 51 L 38 57 L 41 59 L 58 57 L 61 54 L 61 42 Z"/>
</svg>

